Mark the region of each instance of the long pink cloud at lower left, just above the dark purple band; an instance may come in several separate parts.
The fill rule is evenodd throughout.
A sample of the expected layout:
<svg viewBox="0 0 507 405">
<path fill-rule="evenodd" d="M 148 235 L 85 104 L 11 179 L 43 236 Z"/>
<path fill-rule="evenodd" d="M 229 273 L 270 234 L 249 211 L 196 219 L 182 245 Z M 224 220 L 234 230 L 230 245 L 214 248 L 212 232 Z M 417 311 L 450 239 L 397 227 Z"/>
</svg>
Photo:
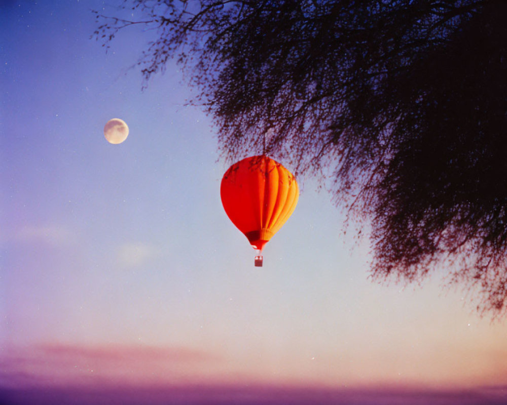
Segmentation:
<svg viewBox="0 0 507 405">
<path fill-rule="evenodd" d="M 2 387 L 167 384 L 205 379 L 217 355 L 189 347 L 46 344 L 0 352 Z"/>
</svg>

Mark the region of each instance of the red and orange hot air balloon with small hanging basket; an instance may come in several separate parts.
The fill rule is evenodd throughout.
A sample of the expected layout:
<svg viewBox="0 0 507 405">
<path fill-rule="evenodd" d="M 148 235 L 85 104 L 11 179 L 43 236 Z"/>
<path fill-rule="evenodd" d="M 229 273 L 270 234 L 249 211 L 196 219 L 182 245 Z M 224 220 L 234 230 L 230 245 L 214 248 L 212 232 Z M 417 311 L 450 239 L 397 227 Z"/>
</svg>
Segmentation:
<svg viewBox="0 0 507 405">
<path fill-rule="evenodd" d="M 255 265 L 262 266 L 264 246 L 298 203 L 294 175 L 266 155 L 247 157 L 225 172 L 220 196 L 229 219 L 258 251 Z"/>
</svg>

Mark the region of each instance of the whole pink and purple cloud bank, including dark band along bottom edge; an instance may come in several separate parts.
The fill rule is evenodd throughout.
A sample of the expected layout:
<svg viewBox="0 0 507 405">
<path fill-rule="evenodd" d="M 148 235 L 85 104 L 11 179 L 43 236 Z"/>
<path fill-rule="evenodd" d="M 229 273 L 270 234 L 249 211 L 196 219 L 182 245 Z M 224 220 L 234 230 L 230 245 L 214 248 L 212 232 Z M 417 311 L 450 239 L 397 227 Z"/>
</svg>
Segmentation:
<svg viewBox="0 0 507 405">
<path fill-rule="evenodd" d="M 191 347 L 46 344 L 0 351 L 0 402 L 31 405 L 143 403 L 146 405 L 499 405 L 505 386 L 441 388 L 325 388 L 259 384 L 216 377 L 224 358 Z M 245 365 L 248 368 L 248 365 Z M 223 371 L 222 371 L 223 373 Z M 225 373 L 231 376 L 230 373 Z M 203 378 L 204 377 L 204 378 Z M 222 376 L 223 377 L 223 376 Z M 236 377 L 234 375 L 233 377 Z M 5 400 L 7 398 L 7 400 Z"/>
</svg>

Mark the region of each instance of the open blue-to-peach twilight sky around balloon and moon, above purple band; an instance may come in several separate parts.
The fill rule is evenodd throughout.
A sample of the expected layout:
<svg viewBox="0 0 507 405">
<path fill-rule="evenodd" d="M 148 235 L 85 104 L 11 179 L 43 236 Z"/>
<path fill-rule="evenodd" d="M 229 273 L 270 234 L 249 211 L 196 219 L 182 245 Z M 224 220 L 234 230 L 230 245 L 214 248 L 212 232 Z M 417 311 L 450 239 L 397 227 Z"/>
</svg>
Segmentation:
<svg viewBox="0 0 507 405">
<path fill-rule="evenodd" d="M 253 267 L 210 117 L 174 64 L 144 91 L 130 68 L 154 33 L 90 39 L 119 0 L 0 4 L 0 389 L 507 384 L 507 323 L 443 268 L 373 284 L 368 240 L 311 179 Z"/>
</svg>

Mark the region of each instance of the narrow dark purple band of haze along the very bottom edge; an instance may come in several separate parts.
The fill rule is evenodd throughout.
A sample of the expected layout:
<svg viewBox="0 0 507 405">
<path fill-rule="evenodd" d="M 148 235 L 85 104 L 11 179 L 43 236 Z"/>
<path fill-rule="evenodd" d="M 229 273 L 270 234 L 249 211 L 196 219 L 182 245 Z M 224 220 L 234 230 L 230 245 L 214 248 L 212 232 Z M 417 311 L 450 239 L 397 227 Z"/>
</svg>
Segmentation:
<svg viewBox="0 0 507 405">
<path fill-rule="evenodd" d="M 2 396 L 3 395 L 3 396 Z M 116 387 L 5 390 L 0 399 L 18 405 L 503 405 L 505 389 L 392 390 L 302 389 L 294 387 Z"/>
</svg>

